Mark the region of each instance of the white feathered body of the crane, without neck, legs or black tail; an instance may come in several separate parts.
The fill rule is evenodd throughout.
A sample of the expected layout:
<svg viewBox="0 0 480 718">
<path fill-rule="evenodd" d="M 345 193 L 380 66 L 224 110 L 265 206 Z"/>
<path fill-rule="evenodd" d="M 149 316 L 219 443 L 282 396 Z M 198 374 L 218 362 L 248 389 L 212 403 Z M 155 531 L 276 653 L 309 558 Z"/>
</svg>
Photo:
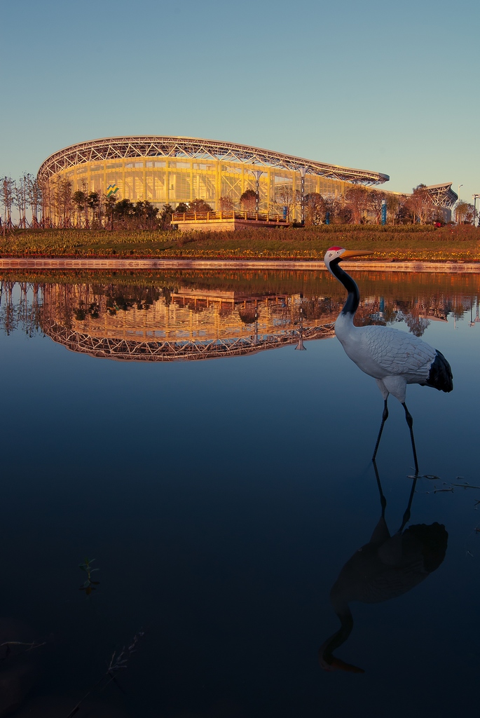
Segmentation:
<svg viewBox="0 0 480 718">
<path fill-rule="evenodd" d="M 407 384 L 425 384 L 436 349 L 392 327 L 355 327 L 353 314 L 339 314 L 335 334 L 347 356 L 377 380 L 384 399 L 391 393 L 405 401 Z"/>
</svg>

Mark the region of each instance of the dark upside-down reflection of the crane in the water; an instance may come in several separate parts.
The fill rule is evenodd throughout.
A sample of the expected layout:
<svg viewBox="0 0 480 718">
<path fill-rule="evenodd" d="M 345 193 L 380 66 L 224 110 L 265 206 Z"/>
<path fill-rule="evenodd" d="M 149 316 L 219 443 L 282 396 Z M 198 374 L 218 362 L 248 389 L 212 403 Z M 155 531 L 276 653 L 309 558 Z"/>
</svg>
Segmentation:
<svg viewBox="0 0 480 718">
<path fill-rule="evenodd" d="M 364 673 L 362 668 L 334 656 L 334 651 L 352 633 L 353 617 L 349 603 L 380 603 L 407 593 L 438 569 L 446 554 L 448 533 L 443 524 L 417 523 L 405 528 L 410 521 L 417 475 L 413 478 L 402 525 L 393 536 L 390 535 L 385 521 L 387 501 L 375 460 L 373 466 L 382 513 L 370 541 L 347 561 L 331 588 L 331 605 L 340 619 L 341 627 L 319 648 L 320 665 L 326 671 Z"/>
</svg>

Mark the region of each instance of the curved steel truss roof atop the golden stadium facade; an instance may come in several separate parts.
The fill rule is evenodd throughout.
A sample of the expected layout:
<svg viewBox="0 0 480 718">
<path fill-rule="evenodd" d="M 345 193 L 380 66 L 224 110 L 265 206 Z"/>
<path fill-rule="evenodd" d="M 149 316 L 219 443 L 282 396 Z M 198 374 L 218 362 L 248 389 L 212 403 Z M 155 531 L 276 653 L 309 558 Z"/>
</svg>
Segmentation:
<svg viewBox="0 0 480 718">
<path fill-rule="evenodd" d="M 258 149 L 245 144 L 220 142 L 193 137 L 167 137 L 141 135 L 107 137 L 80 142 L 61 149 L 46 159 L 38 172 L 38 179 L 48 180 L 52 174 L 85 162 L 103 162 L 107 159 L 128 157 L 183 157 L 188 159 L 215 159 L 221 162 L 243 162 L 264 167 L 278 167 L 293 172 L 305 168 L 306 174 L 316 174 L 330 180 L 343 180 L 359 185 L 381 185 L 390 180 L 388 174 L 367 169 L 339 167 L 337 164 L 314 162 L 282 152 Z"/>
</svg>

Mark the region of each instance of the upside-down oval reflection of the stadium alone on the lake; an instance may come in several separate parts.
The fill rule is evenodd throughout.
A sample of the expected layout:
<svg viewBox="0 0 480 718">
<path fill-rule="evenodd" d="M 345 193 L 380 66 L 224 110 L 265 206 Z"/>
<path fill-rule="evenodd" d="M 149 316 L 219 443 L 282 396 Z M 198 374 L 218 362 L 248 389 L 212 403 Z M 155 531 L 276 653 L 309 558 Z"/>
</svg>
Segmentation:
<svg viewBox="0 0 480 718">
<path fill-rule="evenodd" d="M 302 321 L 299 294 L 252 296 L 179 286 L 146 289 L 48 286 L 42 328 L 67 348 L 116 360 L 175 361 L 237 356 L 333 334 L 329 304 Z"/>
</svg>

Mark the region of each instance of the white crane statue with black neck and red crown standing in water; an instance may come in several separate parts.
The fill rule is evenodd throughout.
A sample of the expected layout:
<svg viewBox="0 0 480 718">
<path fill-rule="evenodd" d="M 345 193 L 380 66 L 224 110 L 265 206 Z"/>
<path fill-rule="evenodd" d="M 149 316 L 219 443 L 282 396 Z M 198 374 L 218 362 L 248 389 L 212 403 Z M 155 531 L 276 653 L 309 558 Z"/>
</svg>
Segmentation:
<svg viewBox="0 0 480 718">
<path fill-rule="evenodd" d="M 347 289 L 348 297 L 337 322 L 337 335 L 347 356 L 365 374 L 377 381 L 382 392 L 384 407 L 382 424 L 378 433 L 373 459 L 377 455 L 383 426 L 388 418 L 387 399 L 392 394 L 405 409 L 405 419 L 410 429 L 415 472 L 418 474 L 417 452 L 413 438 L 413 419 L 405 404 L 407 384 L 432 386 L 440 391 L 453 389 L 450 364 L 438 349 L 433 349 L 423 340 L 392 327 L 355 327 L 353 320 L 357 312 L 360 294 L 352 277 L 340 266 L 342 259 L 372 254 L 370 251 L 354 251 L 343 247 L 327 249 L 324 262 L 326 268 Z"/>
</svg>

